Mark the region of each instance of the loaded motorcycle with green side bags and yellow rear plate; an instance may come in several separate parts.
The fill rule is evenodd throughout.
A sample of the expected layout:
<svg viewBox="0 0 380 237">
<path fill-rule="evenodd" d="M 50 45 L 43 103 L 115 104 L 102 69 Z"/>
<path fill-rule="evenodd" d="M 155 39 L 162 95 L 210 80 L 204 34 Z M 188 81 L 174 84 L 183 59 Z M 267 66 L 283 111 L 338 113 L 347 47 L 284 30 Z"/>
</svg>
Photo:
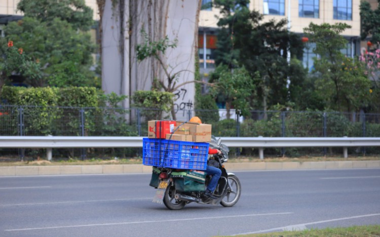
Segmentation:
<svg viewBox="0 0 380 237">
<path fill-rule="evenodd" d="M 227 173 L 223 163 L 228 161 L 229 148 L 221 144 L 220 138 L 212 136 L 210 148 L 217 148 L 221 154 L 215 154 L 208 160 L 209 166 L 221 170 L 221 176 L 211 199 L 204 195 L 211 176 L 203 171 L 178 170 L 163 167 L 154 167 L 150 186 L 157 188 L 153 202 L 164 203 L 170 210 L 180 210 L 186 204 L 220 204 L 223 207 L 232 207 L 240 199 L 241 184 L 233 173 Z"/>
</svg>

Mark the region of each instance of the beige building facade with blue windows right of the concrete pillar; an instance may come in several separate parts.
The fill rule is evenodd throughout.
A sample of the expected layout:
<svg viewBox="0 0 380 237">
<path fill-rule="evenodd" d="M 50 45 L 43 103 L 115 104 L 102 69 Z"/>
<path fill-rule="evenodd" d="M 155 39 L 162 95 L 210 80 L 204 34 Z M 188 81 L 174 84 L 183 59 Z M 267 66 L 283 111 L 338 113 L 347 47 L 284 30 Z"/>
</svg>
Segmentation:
<svg viewBox="0 0 380 237">
<path fill-rule="evenodd" d="M 372 5 L 376 7 L 376 0 Z M 219 9 L 212 7 L 212 0 L 202 0 L 204 8 L 199 20 L 199 57 L 201 72 L 208 74 L 215 67 L 213 51 L 216 48 L 216 31 Z M 211 5 L 211 7 L 210 7 Z M 335 24 L 343 22 L 351 26 L 343 32 L 347 39 L 347 48 L 343 50 L 349 57 L 360 54 L 365 43 L 360 42 L 360 0 L 251 0 L 248 8 L 256 10 L 264 15 L 264 21 L 286 18 L 288 29 L 292 32 L 302 34 L 303 28 L 311 22 L 315 24 Z M 302 62 L 305 67 L 311 68 L 313 45 L 305 49 Z M 365 48 L 364 48 L 365 50 Z"/>
</svg>

